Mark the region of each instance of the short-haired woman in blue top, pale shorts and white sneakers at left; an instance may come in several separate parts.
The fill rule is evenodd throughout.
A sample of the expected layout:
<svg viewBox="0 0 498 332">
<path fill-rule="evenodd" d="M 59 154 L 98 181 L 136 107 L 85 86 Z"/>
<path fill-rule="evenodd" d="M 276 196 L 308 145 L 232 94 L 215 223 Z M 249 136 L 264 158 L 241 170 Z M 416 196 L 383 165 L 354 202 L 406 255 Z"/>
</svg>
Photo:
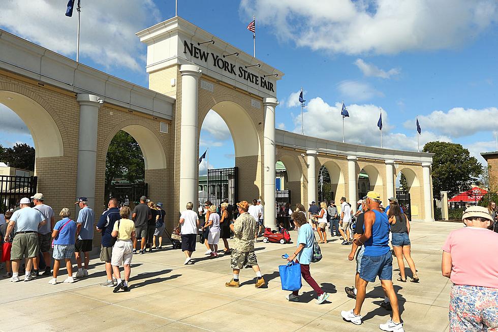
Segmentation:
<svg viewBox="0 0 498 332">
<path fill-rule="evenodd" d="M 66 268 L 68 269 L 68 278 L 64 280 L 65 283 L 74 283 L 73 278 L 73 264 L 71 257 L 74 255 L 74 244 L 76 243 L 76 223 L 71 220 L 71 212 L 69 208 L 65 207 L 60 210 L 59 216 L 62 220 L 55 223 L 52 231 L 53 237 L 53 276 L 48 282 L 50 285 L 57 283 L 57 274 L 59 273 L 60 261 L 66 261 Z"/>
</svg>

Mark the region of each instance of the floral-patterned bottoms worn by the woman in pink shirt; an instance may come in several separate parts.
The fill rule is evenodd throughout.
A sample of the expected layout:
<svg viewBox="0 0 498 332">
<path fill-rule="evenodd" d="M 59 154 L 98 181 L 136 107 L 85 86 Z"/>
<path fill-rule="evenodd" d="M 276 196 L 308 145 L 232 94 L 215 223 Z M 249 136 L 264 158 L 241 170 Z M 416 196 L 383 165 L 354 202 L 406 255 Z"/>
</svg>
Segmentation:
<svg viewBox="0 0 498 332">
<path fill-rule="evenodd" d="M 450 332 L 498 331 L 498 288 L 453 285 Z"/>
</svg>

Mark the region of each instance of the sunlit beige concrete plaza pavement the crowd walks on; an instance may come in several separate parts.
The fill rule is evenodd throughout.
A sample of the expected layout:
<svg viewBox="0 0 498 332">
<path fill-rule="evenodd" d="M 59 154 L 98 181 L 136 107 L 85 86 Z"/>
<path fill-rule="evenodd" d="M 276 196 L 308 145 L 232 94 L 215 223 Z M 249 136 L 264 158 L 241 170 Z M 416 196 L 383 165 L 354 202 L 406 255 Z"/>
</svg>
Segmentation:
<svg viewBox="0 0 498 332">
<path fill-rule="evenodd" d="M 451 283 L 441 276 L 441 247 L 456 223 L 412 223 L 413 258 L 421 282 L 395 282 L 401 318 L 407 331 L 447 331 Z M 291 232 L 296 239 L 296 232 Z M 98 258 L 90 261 L 90 275 L 74 284 L 49 285 L 49 278 L 10 283 L 0 280 L 0 330 L 33 331 L 376 331 L 389 318 L 379 304 L 380 282 L 371 283 L 363 305 L 363 324 L 343 321 L 341 310 L 354 307 L 345 286 L 354 284 L 355 263 L 347 259 L 349 246 L 337 237 L 321 245 L 324 258 L 312 264 L 315 280 L 330 294 L 316 305 L 312 288 L 303 285 L 300 303 L 285 299 L 278 265 L 294 245 L 257 244 L 257 257 L 268 287 L 254 287 L 252 269 L 241 271 L 240 288 L 227 288 L 229 257 L 207 258 L 198 244 L 194 265 L 183 265 L 184 255 L 170 246 L 162 252 L 134 255 L 131 291 L 112 293 L 100 287 L 105 270 Z M 394 277 L 397 278 L 397 263 Z M 66 278 L 66 270 L 58 280 Z M 11 317 L 11 318 L 9 318 Z"/>
</svg>

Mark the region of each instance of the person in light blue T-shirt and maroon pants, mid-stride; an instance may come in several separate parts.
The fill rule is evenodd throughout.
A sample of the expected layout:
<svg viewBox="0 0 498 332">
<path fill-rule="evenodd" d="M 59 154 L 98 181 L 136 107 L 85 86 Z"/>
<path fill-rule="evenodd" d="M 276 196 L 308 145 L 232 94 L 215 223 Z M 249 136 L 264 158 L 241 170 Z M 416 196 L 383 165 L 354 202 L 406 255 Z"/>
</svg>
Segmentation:
<svg viewBox="0 0 498 332">
<path fill-rule="evenodd" d="M 312 225 L 310 225 L 306 216 L 301 212 L 294 212 L 292 214 L 292 219 L 294 224 L 299 228 L 299 233 L 297 236 L 297 250 L 292 254 L 287 260 L 296 260 L 296 263 L 301 265 L 301 276 L 308 283 L 309 286 L 317 293 L 318 298 L 316 304 L 322 304 L 328 297 L 329 294 L 325 293 L 317 282 L 309 273 L 309 264 L 313 257 L 313 246 L 315 244 L 315 234 L 313 232 Z M 287 295 L 286 298 L 289 301 L 298 302 L 299 301 L 299 291 L 296 290 L 291 294 Z"/>
</svg>

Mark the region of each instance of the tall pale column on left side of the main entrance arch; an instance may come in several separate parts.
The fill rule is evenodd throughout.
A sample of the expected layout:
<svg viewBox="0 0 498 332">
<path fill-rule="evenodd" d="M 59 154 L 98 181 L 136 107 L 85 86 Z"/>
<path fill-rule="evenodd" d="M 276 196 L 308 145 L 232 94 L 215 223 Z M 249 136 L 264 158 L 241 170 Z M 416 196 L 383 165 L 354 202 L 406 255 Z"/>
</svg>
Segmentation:
<svg viewBox="0 0 498 332">
<path fill-rule="evenodd" d="M 201 71 L 194 65 L 181 65 L 181 123 L 180 123 L 180 210 L 186 203 L 197 202 L 197 106 Z"/>
</svg>

